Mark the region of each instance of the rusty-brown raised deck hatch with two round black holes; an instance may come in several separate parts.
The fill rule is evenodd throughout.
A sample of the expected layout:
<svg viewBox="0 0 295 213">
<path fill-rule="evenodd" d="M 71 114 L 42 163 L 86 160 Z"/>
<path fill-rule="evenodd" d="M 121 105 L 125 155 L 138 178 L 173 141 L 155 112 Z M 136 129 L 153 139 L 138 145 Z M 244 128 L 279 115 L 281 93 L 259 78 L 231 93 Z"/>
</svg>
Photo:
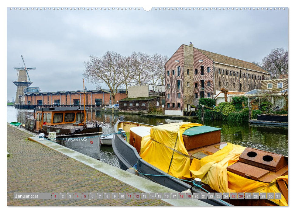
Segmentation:
<svg viewBox="0 0 295 213">
<path fill-rule="evenodd" d="M 263 169 L 269 169 L 273 172 L 278 171 L 288 164 L 283 155 L 261 151 L 254 148 L 245 148 L 239 161 Z"/>
</svg>

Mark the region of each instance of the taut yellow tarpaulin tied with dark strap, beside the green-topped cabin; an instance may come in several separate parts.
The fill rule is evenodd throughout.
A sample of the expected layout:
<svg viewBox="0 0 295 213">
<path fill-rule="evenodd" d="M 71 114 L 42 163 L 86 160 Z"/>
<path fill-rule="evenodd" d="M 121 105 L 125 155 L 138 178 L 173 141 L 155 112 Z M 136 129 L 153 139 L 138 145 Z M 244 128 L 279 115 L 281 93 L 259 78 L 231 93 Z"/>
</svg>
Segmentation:
<svg viewBox="0 0 295 213">
<path fill-rule="evenodd" d="M 182 134 L 186 129 L 195 126 L 202 124 L 181 122 L 152 127 L 150 135 L 142 138 L 140 157 L 174 177 L 190 178 L 190 159 Z"/>
</svg>

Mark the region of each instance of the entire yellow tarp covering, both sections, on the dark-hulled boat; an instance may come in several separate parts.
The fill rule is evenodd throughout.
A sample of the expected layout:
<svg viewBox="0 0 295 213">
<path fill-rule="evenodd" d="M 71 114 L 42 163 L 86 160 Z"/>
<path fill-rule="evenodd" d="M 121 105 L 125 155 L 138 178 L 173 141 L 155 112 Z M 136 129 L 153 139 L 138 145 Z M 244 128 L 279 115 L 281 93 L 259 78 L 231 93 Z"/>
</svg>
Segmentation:
<svg viewBox="0 0 295 213">
<path fill-rule="evenodd" d="M 190 158 L 184 147 L 182 133 L 190 127 L 201 125 L 181 122 L 152 127 L 150 135 L 142 138 L 140 156 L 146 162 L 174 177 L 200 178 L 203 183 L 208 184 L 213 190 L 218 192 L 275 193 L 280 192 L 275 184 L 277 180 L 283 180 L 288 184 L 288 175 L 280 176 L 271 183 L 263 183 L 228 172 L 227 166 L 237 162 L 245 149 L 245 147 L 231 143 L 227 143 L 218 152 L 208 155 L 201 160 L 193 158 L 190 165 Z M 175 152 L 173 154 L 174 146 Z M 171 162 L 172 155 L 173 161 Z M 280 206 L 288 205 L 283 195 L 282 199 L 271 201 Z"/>
</svg>

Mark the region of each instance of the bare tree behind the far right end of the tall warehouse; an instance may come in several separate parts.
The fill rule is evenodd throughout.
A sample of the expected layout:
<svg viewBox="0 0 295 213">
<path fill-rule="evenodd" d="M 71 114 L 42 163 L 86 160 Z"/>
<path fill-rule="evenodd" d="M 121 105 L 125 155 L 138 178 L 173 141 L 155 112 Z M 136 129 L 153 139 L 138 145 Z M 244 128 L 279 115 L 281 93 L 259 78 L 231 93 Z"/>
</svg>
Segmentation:
<svg viewBox="0 0 295 213">
<path fill-rule="evenodd" d="M 281 48 L 272 51 L 263 58 L 262 67 L 270 72 L 273 79 L 281 74 L 288 74 L 288 51 Z"/>
</svg>

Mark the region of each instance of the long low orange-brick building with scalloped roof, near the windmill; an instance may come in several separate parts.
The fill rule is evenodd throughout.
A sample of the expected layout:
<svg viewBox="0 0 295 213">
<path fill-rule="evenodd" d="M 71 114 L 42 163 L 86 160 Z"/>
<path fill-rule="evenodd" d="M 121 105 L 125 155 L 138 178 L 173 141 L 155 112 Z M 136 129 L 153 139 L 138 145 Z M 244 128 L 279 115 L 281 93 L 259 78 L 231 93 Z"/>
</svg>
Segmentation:
<svg viewBox="0 0 295 213">
<path fill-rule="evenodd" d="M 105 90 L 108 91 L 108 90 Z M 26 92 L 25 105 L 84 105 L 83 90 L 57 91 L 57 92 Z M 115 95 L 116 100 L 126 98 L 125 90 L 119 90 Z M 85 105 L 104 106 L 111 103 L 111 95 L 101 90 L 86 90 Z"/>
</svg>

